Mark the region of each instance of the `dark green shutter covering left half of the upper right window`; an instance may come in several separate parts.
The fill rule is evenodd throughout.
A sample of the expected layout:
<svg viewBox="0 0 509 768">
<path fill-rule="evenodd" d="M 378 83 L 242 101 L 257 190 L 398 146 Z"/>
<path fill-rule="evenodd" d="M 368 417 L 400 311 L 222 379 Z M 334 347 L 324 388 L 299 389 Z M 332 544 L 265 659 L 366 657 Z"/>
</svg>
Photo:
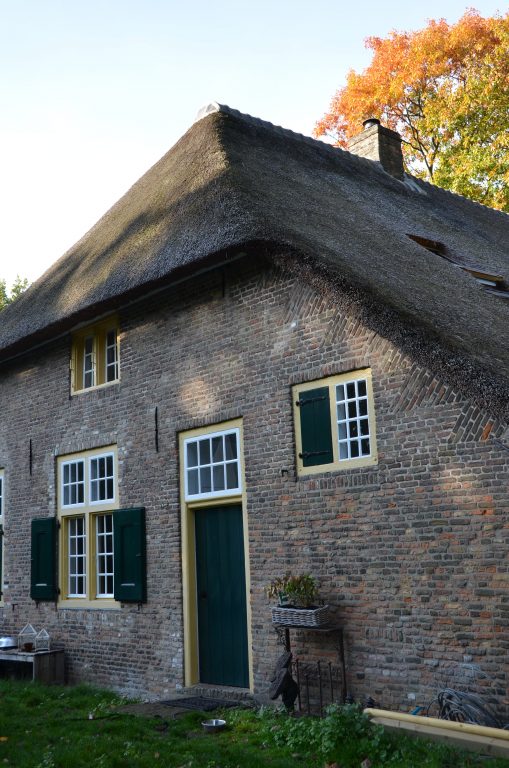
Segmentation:
<svg viewBox="0 0 509 768">
<path fill-rule="evenodd" d="M 319 387 L 299 392 L 300 434 L 304 467 L 331 464 L 332 430 L 329 404 L 329 387 Z"/>
</svg>

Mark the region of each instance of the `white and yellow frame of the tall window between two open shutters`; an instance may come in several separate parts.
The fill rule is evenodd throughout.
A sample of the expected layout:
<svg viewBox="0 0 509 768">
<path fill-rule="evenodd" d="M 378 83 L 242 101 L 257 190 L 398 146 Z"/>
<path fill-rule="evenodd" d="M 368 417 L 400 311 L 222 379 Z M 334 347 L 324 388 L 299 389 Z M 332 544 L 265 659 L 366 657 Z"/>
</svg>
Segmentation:
<svg viewBox="0 0 509 768">
<path fill-rule="evenodd" d="M 95 480 L 92 480 L 92 467 L 93 463 L 100 459 L 107 460 L 111 458 L 111 474 L 108 473 L 107 461 L 105 461 L 106 474 L 98 476 Z M 81 463 L 83 467 L 83 502 L 75 504 L 64 504 L 64 468 L 72 464 Z M 57 459 L 57 472 L 58 472 L 58 518 L 61 524 L 61 542 L 60 542 L 60 589 L 61 589 L 61 602 L 70 607 L 96 605 L 98 603 L 101 606 L 116 607 L 118 603 L 114 600 L 114 591 L 104 592 L 99 590 L 101 575 L 106 578 L 106 584 L 108 577 L 113 575 L 110 571 L 105 571 L 103 566 L 106 563 L 106 559 L 101 561 L 101 557 L 113 554 L 113 511 L 118 508 L 118 461 L 117 461 L 117 449 L 116 446 L 110 446 L 108 448 L 101 448 L 97 450 L 84 451 L 83 453 L 71 454 L 66 456 L 60 456 Z M 103 498 L 92 501 L 92 483 L 99 483 L 100 480 L 105 480 L 105 495 Z M 108 492 L 108 481 L 112 481 L 112 492 Z M 111 522 L 108 523 L 110 529 L 107 533 L 106 539 L 108 552 L 101 553 L 100 550 L 100 518 L 105 516 L 111 516 Z M 76 554 L 71 552 L 71 528 L 75 525 L 73 521 L 83 519 L 84 530 L 84 553 L 80 559 Z M 111 531 L 111 535 L 110 535 Z M 72 566 L 71 559 L 74 558 L 76 563 L 81 562 L 84 564 L 83 571 L 80 575 L 83 575 L 85 579 L 84 592 L 78 593 L 76 590 L 76 582 L 72 582 Z M 76 569 L 74 569 L 76 570 Z M 72 589 L 71 589 L 72 586 Z M 114 590 L 114 584 L 113 584 Z"/>
</svg>

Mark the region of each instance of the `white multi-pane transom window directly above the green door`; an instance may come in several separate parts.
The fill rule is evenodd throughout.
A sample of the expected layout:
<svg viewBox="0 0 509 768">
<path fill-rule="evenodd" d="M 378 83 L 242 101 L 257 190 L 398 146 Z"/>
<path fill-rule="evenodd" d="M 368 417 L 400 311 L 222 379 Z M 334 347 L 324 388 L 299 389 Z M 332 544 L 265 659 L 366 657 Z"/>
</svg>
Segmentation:
<svg viewBox="0 0 509 768">
<path fill-rule="evenodd" d="M 188 438 L 184 462 L 186 499 L 241 492 L 238 429 Z"/>
</svg>

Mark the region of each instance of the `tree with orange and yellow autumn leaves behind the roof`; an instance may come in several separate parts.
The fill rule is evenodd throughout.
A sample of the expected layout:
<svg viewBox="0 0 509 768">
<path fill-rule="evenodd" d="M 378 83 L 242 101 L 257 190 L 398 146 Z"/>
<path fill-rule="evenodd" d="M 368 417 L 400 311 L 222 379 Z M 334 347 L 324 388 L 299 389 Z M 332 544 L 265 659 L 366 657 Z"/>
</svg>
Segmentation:
<svg viewBox="0 0 509 768">
<path fill-rule="evenodd" d="M 370 37 L 371 64 L 350 71 L 315 127 L 338 146 L 378 117 L 403 139 L 411 173 L 509 212 L 509 13 Z"/>
</svg>

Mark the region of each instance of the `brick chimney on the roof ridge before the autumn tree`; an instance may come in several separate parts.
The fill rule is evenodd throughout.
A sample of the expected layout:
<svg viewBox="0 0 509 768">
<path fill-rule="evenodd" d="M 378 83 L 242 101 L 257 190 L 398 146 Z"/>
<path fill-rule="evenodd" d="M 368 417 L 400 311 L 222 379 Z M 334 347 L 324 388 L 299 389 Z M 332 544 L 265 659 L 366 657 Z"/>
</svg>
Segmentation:
<svg viewBox="0 0 509 768">
<path fill-rule="evenodd" d="M 362 125 L 362 133 L 349 139 L 348 151 L 368 160 L 377 160 L 386 173 L 403 181 L 403 153 L 399 133 L 384 128 L 375 117 L 364 120 Z"/>
</svg>

